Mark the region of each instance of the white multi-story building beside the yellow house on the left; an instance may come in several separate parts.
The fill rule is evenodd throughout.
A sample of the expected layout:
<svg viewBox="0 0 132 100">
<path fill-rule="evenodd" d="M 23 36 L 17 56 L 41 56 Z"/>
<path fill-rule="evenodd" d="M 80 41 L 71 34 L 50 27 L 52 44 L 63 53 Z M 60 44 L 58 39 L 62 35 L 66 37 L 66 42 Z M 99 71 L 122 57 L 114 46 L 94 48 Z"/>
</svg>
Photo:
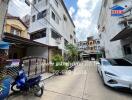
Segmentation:
<svg viewBox="0 0 132 100">
<path fill-rule="evenodd" d="M 75 44 L 75 25 L 63 0 L 33 0 L 30 19 L 32 40 L 54 46 L 62 55 L 67 43 Z M 49 50 L 50 57 L 54 49 Z"/>
</svg>

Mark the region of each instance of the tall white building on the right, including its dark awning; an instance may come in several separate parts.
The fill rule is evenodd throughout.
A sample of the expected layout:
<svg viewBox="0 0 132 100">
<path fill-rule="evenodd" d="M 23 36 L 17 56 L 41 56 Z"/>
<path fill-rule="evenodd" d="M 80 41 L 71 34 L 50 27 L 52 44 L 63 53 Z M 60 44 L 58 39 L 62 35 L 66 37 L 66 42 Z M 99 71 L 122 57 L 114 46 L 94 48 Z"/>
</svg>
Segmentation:
<svg viewBox="0 0 132 100">
<path fill-rule="evenodd" d="M 111 15 L 112 9 L 117 6 L 124 9 L 122 17 Z M 107 58 L 132 59 L 131 8 L 131 0 L 102 0 L 98 28 Z"/>
</svg>

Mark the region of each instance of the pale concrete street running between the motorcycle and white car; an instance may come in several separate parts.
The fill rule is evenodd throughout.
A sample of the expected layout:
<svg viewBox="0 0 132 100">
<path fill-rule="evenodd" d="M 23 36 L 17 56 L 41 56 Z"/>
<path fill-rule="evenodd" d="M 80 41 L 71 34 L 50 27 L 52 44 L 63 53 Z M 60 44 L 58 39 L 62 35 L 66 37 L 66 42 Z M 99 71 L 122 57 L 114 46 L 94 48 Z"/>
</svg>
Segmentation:
<svg viewBox="0 0 132 100">
<path fill-rule="evenodd" d="M 85 61 L 74 72 L 45 81 L 42 98 L 12 96 L 9 100 L 131 100 L 130 93 L 115 91 L 102 84 L 95 62 Z"/>
</svg>

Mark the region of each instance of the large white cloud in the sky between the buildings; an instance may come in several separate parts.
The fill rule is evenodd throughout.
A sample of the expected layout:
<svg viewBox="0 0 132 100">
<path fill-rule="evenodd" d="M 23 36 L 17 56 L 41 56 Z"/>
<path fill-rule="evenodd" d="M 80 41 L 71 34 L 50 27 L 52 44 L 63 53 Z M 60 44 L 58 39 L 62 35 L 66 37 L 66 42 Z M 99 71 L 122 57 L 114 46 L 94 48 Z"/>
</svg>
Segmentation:
<svg viewBox="0 0 132 100">
<path fill-rule="evenodd" d="M 97 21 L 101 0 L 78 0 L 78 10 L 74 15 L 77 38 L 86 40 L 88 36 L 97 34 Z"/>
</svg>

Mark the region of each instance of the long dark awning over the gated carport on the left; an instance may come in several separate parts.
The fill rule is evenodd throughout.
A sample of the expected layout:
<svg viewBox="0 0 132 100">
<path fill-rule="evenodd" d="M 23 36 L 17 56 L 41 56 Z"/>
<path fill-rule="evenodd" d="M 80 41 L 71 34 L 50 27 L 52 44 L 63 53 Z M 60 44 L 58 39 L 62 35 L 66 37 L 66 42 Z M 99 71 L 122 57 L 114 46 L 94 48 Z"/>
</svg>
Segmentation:
<svg viewBox="0 0 132 100">
<path fill-rule="evenodd" d="M 5 42 L 10 42 L 11 44 L 18 44 L 22 45 L 24 47 L 29 47 L 29 46 L 41 46 L 41 47 L 48 47 L 46 44 L 42 44 L 36 41 L 32 41 L 30 39 L 26 39 L 17 35 L 13 35 L 10 33 L 4 33 L 3 40 Z"/>
</svg>

